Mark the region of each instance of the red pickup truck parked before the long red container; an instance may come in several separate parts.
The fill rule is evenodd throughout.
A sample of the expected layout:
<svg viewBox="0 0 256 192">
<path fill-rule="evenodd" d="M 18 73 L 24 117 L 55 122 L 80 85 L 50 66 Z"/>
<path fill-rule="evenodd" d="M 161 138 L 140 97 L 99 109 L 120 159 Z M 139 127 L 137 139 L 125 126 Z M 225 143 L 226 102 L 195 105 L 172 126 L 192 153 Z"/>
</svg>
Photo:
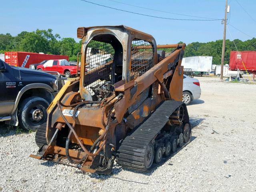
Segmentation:
<svg viewBox="0 0 256 192">
<path fill-rule="evenodd" d="M 65 77 L 76 75 L 76 65 L 70 64 L 66 59 L 48 60 L 42 65 L 36 67 L 37 70 L 42 71 L 56 71 Z M 80 67 L 78 67 L 80 70 Z"/>
</svg>

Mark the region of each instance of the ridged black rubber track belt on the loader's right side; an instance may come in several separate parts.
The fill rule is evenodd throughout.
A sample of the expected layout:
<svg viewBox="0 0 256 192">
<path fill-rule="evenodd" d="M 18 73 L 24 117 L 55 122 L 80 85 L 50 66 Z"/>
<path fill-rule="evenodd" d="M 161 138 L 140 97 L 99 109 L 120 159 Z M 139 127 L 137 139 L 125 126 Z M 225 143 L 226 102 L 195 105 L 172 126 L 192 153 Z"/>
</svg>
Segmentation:
<svg viewBox="0 0 256 192">
<path fill-rule="evenodd" d="M 144 166 L 146 147 L 164 127 L 170 115 L 182 104 L 171 100 L 162 102 L 144 123 L 122 141 L 116 154 L 118 164 L 147 172 Z"/>
</svg>

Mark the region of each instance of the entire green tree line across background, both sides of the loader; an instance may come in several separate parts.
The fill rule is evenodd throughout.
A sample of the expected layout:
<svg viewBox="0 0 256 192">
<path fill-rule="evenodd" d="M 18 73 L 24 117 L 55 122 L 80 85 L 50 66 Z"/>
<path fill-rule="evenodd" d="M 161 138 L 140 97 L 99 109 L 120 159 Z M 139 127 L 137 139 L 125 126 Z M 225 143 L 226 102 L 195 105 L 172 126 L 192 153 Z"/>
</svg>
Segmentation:
<svg viewBox="0 0 256 192">
<path fill-rule="evenodd" d="M 234 40 L 238 51 L 255 51 L 256 38 L 241 41 Z M 226 40 L 224 64 L 229 63 L 230 51 L 236 51 L 233 41 Z M 179 42 L 182 43 L 182 42 Z M 23 31 L 17 36 L 0 34 L 0 53 L 5 51 L 44 52 L 46 54 L 67 55 L 70 61 L 76 61 L 76 55 L 81 50 L 82 40 L 76 42 L 74 38 L 60 38 L 53 34 L 52 29 L 33 32 Z M 172 49 L 164 49 L 166 52 Z M 186 45 L 184 57 L 212 56 L 212 64 L 221 63 L 222 40 L 207 43 L 193 42 Z"/>
</svg>

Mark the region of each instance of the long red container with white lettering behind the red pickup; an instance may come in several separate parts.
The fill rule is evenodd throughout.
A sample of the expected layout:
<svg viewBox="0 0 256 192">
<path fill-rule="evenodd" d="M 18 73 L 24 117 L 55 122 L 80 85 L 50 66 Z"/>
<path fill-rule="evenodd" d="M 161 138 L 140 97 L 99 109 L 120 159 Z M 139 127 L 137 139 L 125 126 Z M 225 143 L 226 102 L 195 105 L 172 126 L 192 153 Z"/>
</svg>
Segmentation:
<svg viewBox="0 0 256 192">
<path fill-rule="evenodd" d="M 29 52 L 4 52 L 5 62 L 11 66 L 29 68 L 30 64 L 38 64 L 43 60 L 66 59 L 66 55 L 50 55 Z"/>
</svg>

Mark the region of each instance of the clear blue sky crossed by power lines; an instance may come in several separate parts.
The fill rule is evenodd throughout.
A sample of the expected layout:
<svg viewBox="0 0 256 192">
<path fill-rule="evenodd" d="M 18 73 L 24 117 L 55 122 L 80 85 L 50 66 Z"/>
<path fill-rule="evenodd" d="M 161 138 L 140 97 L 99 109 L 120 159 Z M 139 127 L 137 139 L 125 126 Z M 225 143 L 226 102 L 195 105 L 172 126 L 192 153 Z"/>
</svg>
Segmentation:
<svg viewBox="0 0 256 192">
<path fill-rule="evenodd" d="M 114 8 L 140 12 L 168 18 L 197 19 L 187 16 L 145 10 L 110 0 L 89 0 Z M 224 18 L 225 0 L 117 0 L 166 12 L 188 14 L 209 18 Z M 256 37 L 256 22 L 244 12 L 236 2 L 256 20 L 255 0 L 228 0 L 230 4 L 230 24 L 239 30 Z M 139 16 L 118 10 L 89 4 L 80 0 L 10 0 L 1 3 L 0 33 L 10 33 L 13 36 L 21 31 L 34 31 L 39 29 L 53 29 L 54 33 L 62 38 L 76 38 L 76 28 L 79 26 L 120 25 L 151 34 L 157 44 L 171 44 L 179 41 L 186 44 L 191 42 L 209 42 L 222 39 L 223 25 L 221 21 L 179 21 L 165 20 Z M 251 39 L 240 31 L 229 26 L 234 39 Z M 227 30 L 227 39 L 230 39 Z"/>
</svg>

